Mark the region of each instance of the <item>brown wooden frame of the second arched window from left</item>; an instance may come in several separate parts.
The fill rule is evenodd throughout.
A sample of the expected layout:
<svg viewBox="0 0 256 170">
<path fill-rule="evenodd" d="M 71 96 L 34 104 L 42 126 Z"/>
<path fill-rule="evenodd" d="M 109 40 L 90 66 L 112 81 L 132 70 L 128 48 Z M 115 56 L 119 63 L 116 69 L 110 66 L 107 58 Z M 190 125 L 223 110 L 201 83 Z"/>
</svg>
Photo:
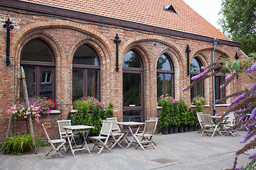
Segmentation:
<svg viewBox="0 0 256 170">
<path fill-rule="evenodd" d="M 97 52 L 94 50 L 93 47 L 91 47 L 90 45 L 88 44 L 82 44 L 82 45 L 86 45 L 87 47 L 90 48 L 90 50 L 92 50 L 95 54 L 95 57 L 97 59 L 97 65 L 90 65 L 90 64 L 74 64 L 73 63 L 73 69 L 82 69 L 83 70 L 83 96 L 88 96 L 87 94 L 87 72 L 88 70 L 96 70 L 97 71 L 97 96 L 95 96 L 95 98 L 97 98 L 98 100 L 100 100 L 100 58 L 99 56 L 97 55 Z M 80 45 L 78 47 L 78 49 L 80 47 L 82 47 L 82 45 Z M 77 49 L 77 50 L 78 50 Z M 75 50 L 75 52 L 77 51 Z M 75 53 L 74 53 L 75 55 Z M 74 56 L 73 56 L 73 61 L 74 61 Z M 73 98 L 74 100 L 74 98 Z"/>
</svg>

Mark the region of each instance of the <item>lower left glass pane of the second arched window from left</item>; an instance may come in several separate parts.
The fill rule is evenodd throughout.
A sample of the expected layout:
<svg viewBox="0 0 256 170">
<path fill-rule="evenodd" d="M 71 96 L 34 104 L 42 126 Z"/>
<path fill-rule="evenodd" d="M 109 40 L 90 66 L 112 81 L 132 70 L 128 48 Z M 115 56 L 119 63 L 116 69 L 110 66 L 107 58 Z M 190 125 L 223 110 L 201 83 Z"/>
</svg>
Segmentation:
<svg viewBox="0 0 256 170">
<path fill-rule="evenodd" d="M 73 68 L 73 101 L 84 96 L 83 69 Z"/>
</svg>

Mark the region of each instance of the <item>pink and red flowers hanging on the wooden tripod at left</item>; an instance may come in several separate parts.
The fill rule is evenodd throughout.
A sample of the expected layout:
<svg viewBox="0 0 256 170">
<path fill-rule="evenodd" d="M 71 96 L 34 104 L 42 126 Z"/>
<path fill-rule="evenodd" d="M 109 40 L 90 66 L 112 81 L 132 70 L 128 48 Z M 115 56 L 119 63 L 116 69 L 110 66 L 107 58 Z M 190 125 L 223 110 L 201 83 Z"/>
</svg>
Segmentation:
<svg viewBox="0 0 256 170">
<path fill-rule="evenodd" d="M 49 114 L 50 108 L 55 108 L 55 102 L 51 98 L 28 98 L 29 107 L 25 101 L 21 101 L 17 105 L 12 106 L 8 110 L 8 114 L 12 114 L 14 118 L 28 118 L 31 115 L 32 120 L 39 122 L 41 114 Z"/>
</svg>

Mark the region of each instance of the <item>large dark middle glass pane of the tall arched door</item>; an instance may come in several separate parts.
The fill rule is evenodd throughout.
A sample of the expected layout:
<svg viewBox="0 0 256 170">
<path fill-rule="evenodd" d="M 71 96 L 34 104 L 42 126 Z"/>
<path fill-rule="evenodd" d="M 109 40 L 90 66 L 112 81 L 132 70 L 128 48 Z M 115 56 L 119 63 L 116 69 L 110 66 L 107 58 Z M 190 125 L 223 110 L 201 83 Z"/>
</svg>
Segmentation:
<svg viewBox="0 0 256 170">
<path fill-rule="evenodd" d="M 142 106 L 141 74 L 123 73 L 123 105 Z"/>
</svg>

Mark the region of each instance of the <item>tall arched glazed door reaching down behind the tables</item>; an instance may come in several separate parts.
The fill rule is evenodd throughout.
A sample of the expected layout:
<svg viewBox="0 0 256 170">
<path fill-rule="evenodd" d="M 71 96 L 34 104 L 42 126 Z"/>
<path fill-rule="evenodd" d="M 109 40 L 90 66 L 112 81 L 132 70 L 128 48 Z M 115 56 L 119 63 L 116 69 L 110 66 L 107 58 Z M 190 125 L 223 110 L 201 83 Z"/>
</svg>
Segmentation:
<svg viewBox="0 0 256 170">
<path fill-rule="evenodd" d="M 139 55 L 129 51 L 123 60 L 123 121 L 144 121 L 144 69 Z"/>
</svg>

